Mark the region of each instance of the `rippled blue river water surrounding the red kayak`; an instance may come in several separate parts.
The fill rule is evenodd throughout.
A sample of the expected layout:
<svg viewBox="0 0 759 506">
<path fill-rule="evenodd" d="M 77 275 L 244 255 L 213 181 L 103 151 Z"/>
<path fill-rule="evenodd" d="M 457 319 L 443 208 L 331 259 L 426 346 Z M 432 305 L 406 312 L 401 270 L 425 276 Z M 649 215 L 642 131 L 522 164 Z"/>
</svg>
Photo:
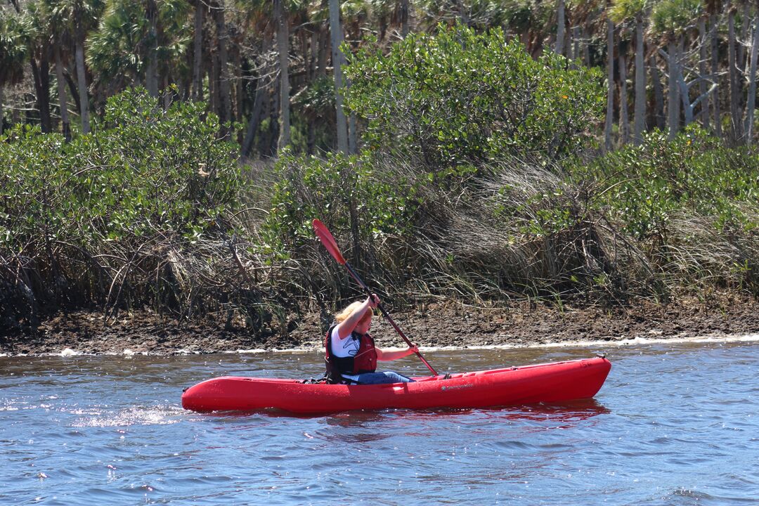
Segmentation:
<svg viewBox="0 0 759 506">
<path fill-rule="evenodd" d="M 592 401 L 314 417 L 202 415 L 180 395 L 315 376 L 317 353 L 0 357 L 0 504 L 759 504 L 759 343 L 609 352 Z M 590 355 L 426 357 L 455 372 Z"/>
</svg>

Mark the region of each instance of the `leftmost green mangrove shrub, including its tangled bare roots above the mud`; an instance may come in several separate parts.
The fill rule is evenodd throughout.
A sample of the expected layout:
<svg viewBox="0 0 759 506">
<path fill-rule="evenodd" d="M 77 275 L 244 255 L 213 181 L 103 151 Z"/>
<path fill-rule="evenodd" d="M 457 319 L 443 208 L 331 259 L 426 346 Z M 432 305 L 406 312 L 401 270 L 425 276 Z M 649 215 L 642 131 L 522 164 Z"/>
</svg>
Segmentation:
<svg viewBox="0 0 759 506">
<path fill-rule="evenodd" d="M 203 109 L 164 109 L 131 90 L 109 99 L 104 123 L 71 143 L 32 127 L 2 137 L 0 284 L 8 293 L 24 292 L 36 311 L 126 296 L 161 306 L 167 286 L 181 291 L 178 259 L 204 238 L 224 237 L 243 184 L 236 147 Z"/>
</svg>

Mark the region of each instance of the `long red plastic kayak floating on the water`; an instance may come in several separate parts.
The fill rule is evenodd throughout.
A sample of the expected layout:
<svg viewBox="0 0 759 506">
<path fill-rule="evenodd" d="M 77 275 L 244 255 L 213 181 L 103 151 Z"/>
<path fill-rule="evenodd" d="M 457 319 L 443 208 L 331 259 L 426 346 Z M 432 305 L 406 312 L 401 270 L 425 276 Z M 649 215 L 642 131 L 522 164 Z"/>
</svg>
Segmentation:
<svg viewBox="0 0 759 506">
<path fill-rule="evenodd" d="M 224 376 L 187 388 L 182 407 L 194 411 L 275 408 L 291 413 L 334 413 L 388 407 L 489 407 L 592 398 L 611 363 L 603 357 L 414 378 L 413 383 L 325 385 L 297 379 Z"/>
</svg>

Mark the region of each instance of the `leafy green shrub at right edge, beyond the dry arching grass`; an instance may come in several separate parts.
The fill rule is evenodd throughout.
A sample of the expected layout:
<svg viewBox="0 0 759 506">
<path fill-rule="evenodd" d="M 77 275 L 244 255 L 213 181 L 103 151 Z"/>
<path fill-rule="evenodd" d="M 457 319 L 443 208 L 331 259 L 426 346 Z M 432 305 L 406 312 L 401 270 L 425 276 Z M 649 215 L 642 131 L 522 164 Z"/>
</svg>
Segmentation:
<svg viewBox="0 0 759 506">
<path fill-rule="evenodd" d="M 697 127 L 672 141 L 654 130 L 641 146 L 575 168 L 573 177 L 598 181 L 597 205 L 638 240 L 665 240 L 679 212 L 713 217 L 720 230 L 757 227 L 745 206 L 759 204 L 759 154 L 726 148 Z"/>
</svg>

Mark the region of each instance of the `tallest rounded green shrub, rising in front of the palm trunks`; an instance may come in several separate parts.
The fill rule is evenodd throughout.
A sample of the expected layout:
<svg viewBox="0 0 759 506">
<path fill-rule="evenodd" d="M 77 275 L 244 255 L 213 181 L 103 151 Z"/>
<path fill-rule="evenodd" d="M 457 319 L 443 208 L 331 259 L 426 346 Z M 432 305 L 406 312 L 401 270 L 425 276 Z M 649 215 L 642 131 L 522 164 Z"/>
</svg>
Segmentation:
<svg viewBox="0 0 759 506">
<path fill-rule="evenodd" d="M 387 55 L 351 55 L 346 74 L 347 104 L 366 119 L 370 147 L 436 167 L 561 159 L 591 144 L 603 111 L 597 70 L 568 69 L 552 52 L 534 60 L 498 29 L 413 33 Z"/>
</svg>

